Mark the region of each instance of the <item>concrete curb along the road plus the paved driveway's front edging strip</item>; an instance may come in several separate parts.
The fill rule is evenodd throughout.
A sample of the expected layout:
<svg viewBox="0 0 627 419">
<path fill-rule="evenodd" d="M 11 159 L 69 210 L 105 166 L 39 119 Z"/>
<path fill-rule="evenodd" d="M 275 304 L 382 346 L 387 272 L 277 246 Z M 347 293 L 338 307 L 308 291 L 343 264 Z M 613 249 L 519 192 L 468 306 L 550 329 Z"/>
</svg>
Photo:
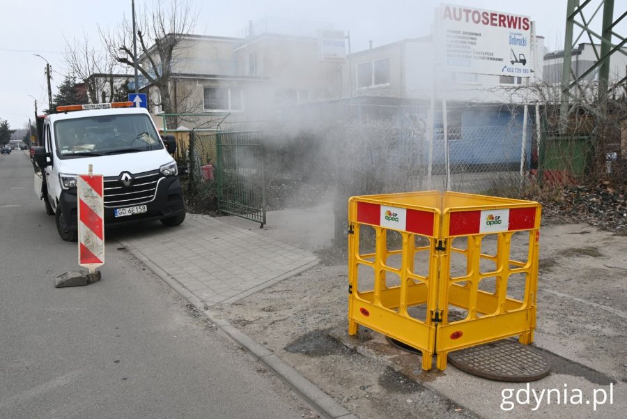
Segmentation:
<svg viewBox="0 0 627 419">
<path fill-rule="evenodd" d="M 196 308 L 197 312 L 203 314 L 209 321 L 214 323 L 217 328 L 226 333 L 226 335 L 228 335 L 235 343 L 245 348 L 255 360 L 261 362 L 268 368 L 268 370 L 272 371 L 274 375 L 278 376 L 279 379 L 290 386 L 295 393 L 311 404 L 311 406 L 313 406 L 314 409 L 316 409 L 322 416 L 327 419 L 358 419 L 355 414 L 348 411 L 348 409 L 336 402 L 335 399 L 333 399 L 330 395 L 327 395 L 327 393 L 323 392 L 323 390 L 320 390 L 320 388 L 318 388 L 314 383 L 302 376 L 302 374 L 297 372 L 293 367 L 286 364 L 283 360 L 281 360 L 281 358 L 274 355 L 274 353 L 272 353 L 268 348 L 256 342 L 256 340 L 252 339 L 249 335 L 243 333 L 238 328 L 235 328 L 235 326 L 233 326 L 229 321 L 218 317 L 215 312 L 205 309 L 206 306 L 200 298 L 195 296 L 192 291 L 185 288 L 182 284 L 180 284 L 180 282 L 178 282 L 162 268 L 154 264 L 153 261 L 146 257 L 146 255 L 139 252 L 139 250 L 135 247 L 132 247 L 130 243 L 123 240 L 118 240 L 117 242 L 121 246 L 125 247 L 126 250 L 128 250 L 135 258 L 141 261 L 142 264 L 146 265 L 146 267 L 157 275 L 157 277 L 159 277 L 163 282 L 168 284 L 171 289 L 176 291 L 176 293 L 178 293 L 181 297 L 185 298 L 187 303 Z M 309 264 L 274 278 L 270 281 L 270 284 L 274 284 L 296 275 L 297 273 L 305 271 L 316 264 L 318 264 L 318 261 L 310 262 Z M 267 287 L 268 283 L 263 285 L 264 287 Z M 258 289 L 261 289 L 261 286 L 249 290 L 250 292 L 246 291 L 247 294 L 238 296 L 237 299 L 245 298 L 246 296 L 254 294 L 255 291 L 258 291 Z M 229 302 L 231 302 L 231 300 L 225 301 L 225 303 Z"/>
</svg>

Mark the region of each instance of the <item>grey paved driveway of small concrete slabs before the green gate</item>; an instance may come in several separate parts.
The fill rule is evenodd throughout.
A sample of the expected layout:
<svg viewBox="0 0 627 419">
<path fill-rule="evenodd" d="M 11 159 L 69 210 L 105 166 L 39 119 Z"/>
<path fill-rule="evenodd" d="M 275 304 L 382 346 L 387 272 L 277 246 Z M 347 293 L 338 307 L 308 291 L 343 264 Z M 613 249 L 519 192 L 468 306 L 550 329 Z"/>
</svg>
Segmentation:
<svg viewBox="0 0 627 419">
<path fill-rule="evenodd" d="M 117 240 L 202 303 L 234 302 L 318 262 L 313 253 L 208 215 L 173 229 L 139 228 Z M 116 235 L 118 236 L 118 235 Z"/>
</svg>

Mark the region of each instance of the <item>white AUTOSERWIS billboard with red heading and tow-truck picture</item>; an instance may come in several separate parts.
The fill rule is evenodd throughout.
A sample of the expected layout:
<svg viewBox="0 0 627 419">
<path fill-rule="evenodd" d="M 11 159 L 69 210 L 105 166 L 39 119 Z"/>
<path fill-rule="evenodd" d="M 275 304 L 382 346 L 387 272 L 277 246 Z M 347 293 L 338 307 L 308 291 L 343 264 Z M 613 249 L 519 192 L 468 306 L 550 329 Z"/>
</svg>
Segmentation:
<svg viewBox="0 0 627 419">
<path fill-rule="evenodd" d="M 532 22 L 528 16 L 451 4 L 442 4 L 435 13 L 442 70 L 532 75 Z"/>
</svg>

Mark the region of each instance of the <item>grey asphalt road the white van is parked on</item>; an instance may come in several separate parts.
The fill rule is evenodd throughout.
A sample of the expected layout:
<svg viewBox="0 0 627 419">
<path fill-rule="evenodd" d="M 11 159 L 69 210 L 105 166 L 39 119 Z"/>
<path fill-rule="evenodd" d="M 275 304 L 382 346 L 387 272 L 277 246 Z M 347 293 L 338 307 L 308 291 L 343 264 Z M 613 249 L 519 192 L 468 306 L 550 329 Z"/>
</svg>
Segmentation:
<svg viewBox="0 0 627 419">
<path fill-rule="evenodd" d="M 36 199 L 22 151 L 0 156 L 0 238 L 0 418 L 309 416 L 117 243 L 100 282 L 55 289 L 77 245 Z"/>
</svg>

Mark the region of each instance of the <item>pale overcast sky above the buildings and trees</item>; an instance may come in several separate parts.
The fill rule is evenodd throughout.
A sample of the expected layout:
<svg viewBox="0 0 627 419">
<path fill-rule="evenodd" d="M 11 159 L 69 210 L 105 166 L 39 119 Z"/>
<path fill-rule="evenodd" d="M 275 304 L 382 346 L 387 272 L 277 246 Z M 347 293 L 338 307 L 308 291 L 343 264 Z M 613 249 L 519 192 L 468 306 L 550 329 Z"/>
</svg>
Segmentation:
<svg viewBox="0 0 627 419">
<path fill-rule="evenodd" d="M 167 3 L 169 0 L 163 0 Z M 240 36 L 249 20 L 280 17 L 329 22 L 350 31 L 353 52 L 403 38 L 427 35 L 439 0 L 192 0 L 198 11 L 196 33 Z M 136 0 L 136 8 L 153 0 Z M 566 0 L 456 0 L 446 3 L 528 15 L 536 34 L 550 50 L 563 49 Z M 617 0 L 625 10 L 627 0 Z M 47 107 L 45 57 L 53 68 L 52 93 L 63 81 L 65 39 L 82 40 L 86 33 L 100 45 L 98 26 L 114 28 L 123 14 L 130 15 L 131 0 L 0 0 L 0 119 L 22 128 L 33 115 L 33 99 Z M 132 73 L 130 69 L 129 73 Z"/>
</svg>

